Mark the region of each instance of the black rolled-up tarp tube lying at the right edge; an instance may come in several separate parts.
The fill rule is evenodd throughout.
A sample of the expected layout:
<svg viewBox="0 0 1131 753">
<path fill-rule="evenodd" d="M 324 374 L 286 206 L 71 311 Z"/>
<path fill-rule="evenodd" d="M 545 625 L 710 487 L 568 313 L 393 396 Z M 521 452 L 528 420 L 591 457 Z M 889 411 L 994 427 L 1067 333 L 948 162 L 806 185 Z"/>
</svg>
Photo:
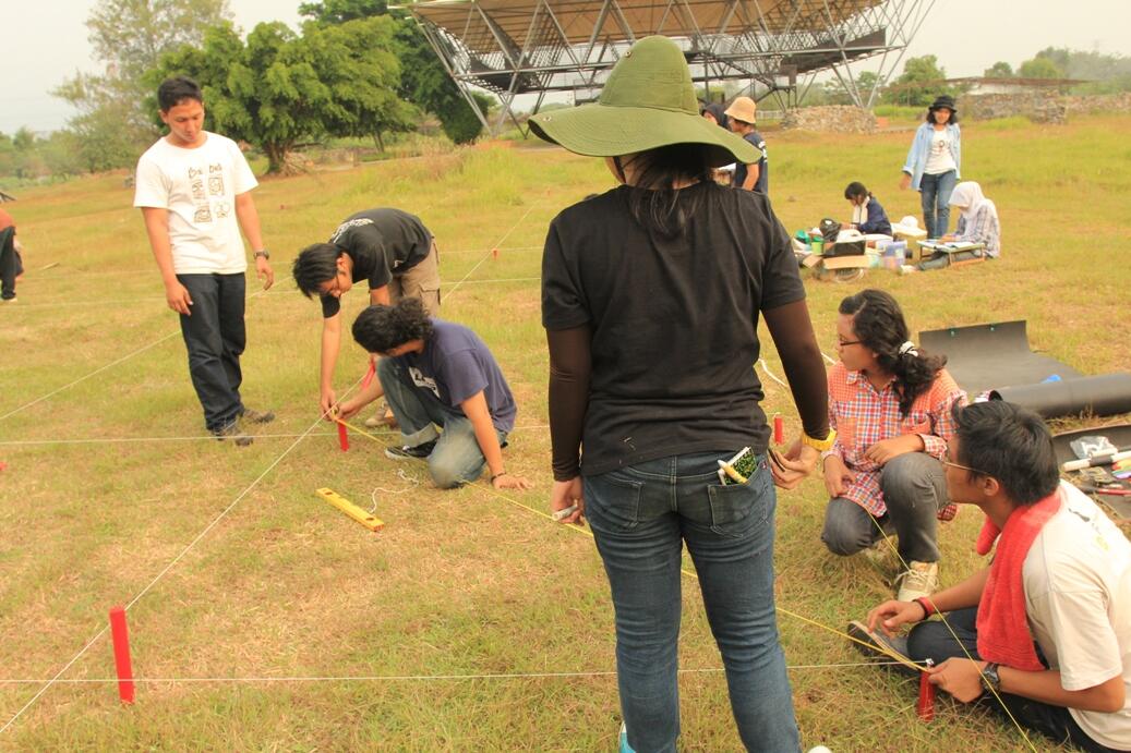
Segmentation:
<svg viewBox="0 0 1131 753">
<path fill-rule="evenodd" d="M 1090 413 L 1114 416 L 1131 413 L 1131 374 L 1078 376 L 1056 382 L 1001 387 L 990 391 L 991 400 L 1007 400 L 1045 418 Z"/>
</svg>

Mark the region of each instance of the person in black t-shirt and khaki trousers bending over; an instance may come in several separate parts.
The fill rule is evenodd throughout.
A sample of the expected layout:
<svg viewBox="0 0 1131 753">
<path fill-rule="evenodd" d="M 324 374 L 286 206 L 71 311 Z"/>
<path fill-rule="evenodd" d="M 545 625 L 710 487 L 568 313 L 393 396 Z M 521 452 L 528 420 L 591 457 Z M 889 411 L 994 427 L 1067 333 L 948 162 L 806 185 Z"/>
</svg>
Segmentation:
<svg viewBox="0 0 1131 753">
<path fill-rule="evenodd" d="M 389 305 L 420 298 L 429 315 L 440 313 L 440 269 L 435 239 L 420 218 L 400 209 L 366 209 L 346 217 L 327 243 L 303 249 L 294 260 L 294 282 L 308 298 L 322 302 L 322 355 L 319 408 L 333 421 L 334 367 L 342 347 L 339 296 L 368 280 L 369 302 Z M 365 425 L 386 423 L 382 415 Z"/>
</svg>

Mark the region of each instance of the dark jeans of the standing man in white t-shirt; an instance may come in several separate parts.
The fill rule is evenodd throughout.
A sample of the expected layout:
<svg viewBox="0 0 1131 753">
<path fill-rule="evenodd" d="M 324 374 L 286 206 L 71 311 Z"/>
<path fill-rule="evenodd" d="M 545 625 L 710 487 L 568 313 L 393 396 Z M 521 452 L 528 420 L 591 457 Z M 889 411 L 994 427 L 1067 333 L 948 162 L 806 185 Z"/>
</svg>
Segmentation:
<svg viewBox="0 0 1131 753">
<path fill-rule="evenodd" d="M 240 355 L 248 344 L 243 324 L 247 282 L 243 272 L 178 275 L 176 279 L 192 297 L 192 315 L 181 314 L 189 374 L 205 409 L 205 425 L 216 431 L 243 414 Z"/>
</svg>

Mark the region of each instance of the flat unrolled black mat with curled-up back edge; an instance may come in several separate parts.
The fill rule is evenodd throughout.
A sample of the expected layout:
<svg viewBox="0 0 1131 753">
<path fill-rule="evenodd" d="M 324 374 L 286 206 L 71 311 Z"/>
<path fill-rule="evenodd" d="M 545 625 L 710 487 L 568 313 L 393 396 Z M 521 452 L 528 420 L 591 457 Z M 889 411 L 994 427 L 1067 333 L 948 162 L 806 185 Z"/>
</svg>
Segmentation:
<svg viewBox="0 0 1131 753">
<path fill-rule="evenodd" d="M 947 356 L 947 371 L 970 397 L 986 390 L 1037 384 L 1056 375 L 1080 376 L 1080 372 L 1029 347 L 1026 322 L 951 327 L 920 332 L 920 345 Z"/>
</svg>

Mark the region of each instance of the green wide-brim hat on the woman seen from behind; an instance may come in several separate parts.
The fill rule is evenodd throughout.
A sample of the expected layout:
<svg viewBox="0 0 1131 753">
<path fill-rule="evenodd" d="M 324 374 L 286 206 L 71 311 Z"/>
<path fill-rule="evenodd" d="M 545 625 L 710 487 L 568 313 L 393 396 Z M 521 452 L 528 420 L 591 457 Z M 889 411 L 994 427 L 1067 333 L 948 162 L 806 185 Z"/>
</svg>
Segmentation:
<svg viewBox="0 0 1131 753">
<path fill-rule="evenodd" d="M 666 36 L 648 36 L 624 53 L 594 104 L 530 115 L 535 136 L 576 154 L 618 157 L 672 144 L 708 147 L 711 167 L 751 164 L 762 154 L 699 114 L 683 51 Z"/>
</svg>

